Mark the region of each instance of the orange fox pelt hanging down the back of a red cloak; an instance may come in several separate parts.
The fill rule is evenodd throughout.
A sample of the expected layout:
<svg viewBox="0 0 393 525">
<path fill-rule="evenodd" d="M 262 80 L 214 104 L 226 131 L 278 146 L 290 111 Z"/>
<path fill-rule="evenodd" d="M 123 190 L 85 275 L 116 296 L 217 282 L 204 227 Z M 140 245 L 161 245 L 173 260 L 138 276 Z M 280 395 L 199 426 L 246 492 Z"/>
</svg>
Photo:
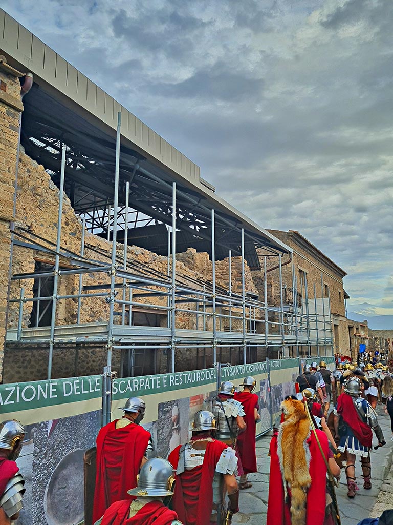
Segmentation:
<svg viewBox="0 0 393 525">
<path fill-rule="evenodd" d="M 277 453 L 286 492 L 291 490 L 292 525 L 304 525 L 306 521 L 307 489 L 311 485 L 310 449 L 307 439 L 310 425 L 301 401 L 289 398 L 281 403 L 284 421 L 278 432 Z"/>
</svg>

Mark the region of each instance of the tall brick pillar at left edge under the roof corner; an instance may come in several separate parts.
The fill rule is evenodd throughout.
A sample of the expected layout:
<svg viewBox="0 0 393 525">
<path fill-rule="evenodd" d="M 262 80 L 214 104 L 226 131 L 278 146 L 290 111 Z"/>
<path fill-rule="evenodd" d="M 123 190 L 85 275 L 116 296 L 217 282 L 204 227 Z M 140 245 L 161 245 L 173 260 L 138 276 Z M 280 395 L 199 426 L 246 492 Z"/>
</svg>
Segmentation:
<svg viewBox="0 0 393 525">
<path fill-rule="evenodd" d="M 14 217 L 19 117 L 23 111 L 20 82 L 23 76 L 0 56 L 0 382 L 3 381 L 5 317 L 10 265 L 10 223 Z"/>
</svg>

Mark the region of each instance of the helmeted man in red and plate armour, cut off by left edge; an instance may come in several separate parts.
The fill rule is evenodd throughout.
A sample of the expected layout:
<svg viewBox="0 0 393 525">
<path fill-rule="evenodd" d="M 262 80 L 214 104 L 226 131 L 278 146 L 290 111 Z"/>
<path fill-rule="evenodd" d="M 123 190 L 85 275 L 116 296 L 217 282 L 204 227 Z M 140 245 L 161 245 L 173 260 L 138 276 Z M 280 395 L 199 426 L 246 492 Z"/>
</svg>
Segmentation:
<svg viewBox="0 0 393 525">
<path fill-rule="evenodd" d="M 25 481 L 15 463 L 23 446 L 25 429 L 16 419 L 0 423 L 0 525 L 9 525 L 23 508 Z"/>
</svg>

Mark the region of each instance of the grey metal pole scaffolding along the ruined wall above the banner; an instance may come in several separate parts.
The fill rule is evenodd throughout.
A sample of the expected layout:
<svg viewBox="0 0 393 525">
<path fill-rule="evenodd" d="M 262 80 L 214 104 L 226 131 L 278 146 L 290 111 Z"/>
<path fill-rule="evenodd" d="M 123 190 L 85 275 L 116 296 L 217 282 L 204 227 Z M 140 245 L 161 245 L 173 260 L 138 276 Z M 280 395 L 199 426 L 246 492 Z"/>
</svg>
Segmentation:
<svg viewBox="0 0 393 525">
<path fill-rule="evenodd" d="M 50 243 L 34 233 L 15 228 L 14 242 L 26 249 L 45 251 L 54 257 L 54 267 L 49 271 L 35 271 L 30 274 L 13 275 L 13 280 L 23 282 L 28 279 L 38 280 L 37 297 L 26 297 L 23 286 L 20 288 L 19 297 L 10 297 L 9 303 L 18 303 L 17 329 L 8 329 L 7 343 L 28 346 L 39 343 L 47 344 L 48 372 L 52 375 L 53 349 L 65 343 L 105 344 L 106 367 L 105 377 L 110 383 L 112 370 L 112 354 L 114 350 L 121 351 L 122 364 L 127 363 L 128 370 L 135 373 L 135 355 L 140 351 L 146 355 L 154 356 L 157 352 L 165 351 L 168 355 L 168 371 L 176 371 L 177 358 L 184 349 L 190 349 L 196 355 L 197 363 L 202 353 L 201 368 L 206 366 L 206 353 L 212 353 L 213 363 L 221 361 L 224 349 L 238 352 L 237 361 L 247 363 L 252 360 L 252 349 L 264 349 L 265 357 L 273 351 L 278 357 L 286 356 L 307 357 L 318 355 L 321 346 L 323 354 L 332 353 L 332 329 L 330 300 L 316 298 L 315 283 L 314 298 L 308 297 L 307 281 L 301 283 L 298 290 L 297 277 L 292 266 L 292 282 L 290 291 L 292 301 L 284 300 L 285 285 L 282 282 L 282 257 L 281 253 L 266 247 L 266 255 L 259 257 L 261 277 L 264 281 L 263 300 L 249 295 L 245 282 L 245 236 L 244 228 L 238 228 L 241 238 L 240 256 L 241 292 L 235 292 L 232 286 L 233 278 L 233 250 L 228 249 L 228 287 L 217 286 L 215 249 L 217 246 L 216 229 L 217 217 L 220 225 L 226 224 L 227 219 L 219 216 L 214 209 L 210 210 L 211 218 L 211 254 L 212 275 L 211 279 L 198 281 L 189 277 L 178 275 L 176 271 L 177 253 L 177 228 L 184 221 L 184 215 L 179 216 L 177 202 L 178 189 L 176 182 L 171 185 L 172 202 L 168 204 L 171 211 L 171 227 L 168 226 L 167 243 L 167 271 L 165 274 L 148 268 L 135 260 L 127 258 L 128 244 L 128 196 L 129 183 L 126 185 L 125 207 L 119 206 L 119 169 L 120 141 L 121 141 L 121 113 L 118 114 L 116 133 L 116 159 L 115 159 L 115 185 L 112 210 L 112 253 L 110 256 L 99 253 L 101 260 L 85 256 L 84 229 L 85 217 L 83 216 L 83 234 L 80 254 L 72 253 L 61 247 L 61 216 L 63 202 L 64 174 L 67 172 L 66 158 L 67 146 L 62 148 L 61 174 L 60 174 L 60 204 L 58 215 L 57 243 Z M 140 169 L 140 167 L 139 167 Z M 135 171 L 134 171 L 135 175 Z M 165 183 L 167 184 L 167 183 Z M 182 195 L 182 198 L 184 195 Z M 194 197 L 194 202 L 198 199 Z M 94 213 L 94 212 L 93 212 Z M 108 216 L 110 214 L 108 213 Z M 119 250 L 116 243 L 118 233 L 118 218 L 124 220 L 122 233 L 124 234 L 124 249 Z M 136 225 L 135 219 L 135 225 Z M 198 235 L 200 232 L 198 232 Z M 204 235 L 203 232 L 201 235 Z M 227 234 L 225 234 L 227 235 Z M 223 245 L 223 235 L 219 238 Z M 121 253 L 118 253 L 121 251 Z M 272 256 L 278 260 L 278 266 L 268 267 L 268 258 Z M 67 269 L 61 269 L 60 260 L 66 258 Z M 102 259 L 107 258 L 107 261 Z M 268 304 L 267 276 L 270 271 L 278 269 L 280 295 L 278 304 Z M 83 275 L 107 276 L 106 282 L 97 285 L 83 285 Z M 70 275 L 79 276 L 78 290 L 68 295 L 59 295 L 59 283 Z M 41 297 L 41 282 L 52 277 L 53 293 Z M 101 279 L 103 280 L 103 279 Z M 104 279 L 105 280 L 105 279 Z M 121 293 L 118 291 L 121 290 Z M 57 316 L 59 301 L 72 299 L 77 304 L 76 324 L 66 325 L 61 323 Z M 108 303 L 108 318 L 106 322 L 84 323 L 81 325 L 82 304 L 90 300 L 100 300 Z M 50 327 L 39 327 L 40 304 L 51 301 L 52 315 Z M 36 324 L 23 327 L 24 313 L 27 304 L 38 302 Z M 166 316 L 165 326 L 143 327 L 133 323 L 134 310 L 143 307 L 145 311 L 160 313 Z M 42 312 L 41 312 L 42 314 Z M 180 318 L 187 316 L 192 328 L 182 328 Z M 83 331 L 81 328 L 83 327 Z M 39 328 L 39 330 L 38 330 Z M 217 355 L 220 353 L 220 355 Z M 248 353 L 248 359 L 247 359 Z M 238 364 L 238 363 L 234 363 Z M 104 385 L 105 387 L 105 385 Z M 108 407 L 110 403 L 108 404 Z M 106 409 L 109 409 L 106 407 Z M 105 407 L 104 407 L 105 412 Z"/>
</svg>

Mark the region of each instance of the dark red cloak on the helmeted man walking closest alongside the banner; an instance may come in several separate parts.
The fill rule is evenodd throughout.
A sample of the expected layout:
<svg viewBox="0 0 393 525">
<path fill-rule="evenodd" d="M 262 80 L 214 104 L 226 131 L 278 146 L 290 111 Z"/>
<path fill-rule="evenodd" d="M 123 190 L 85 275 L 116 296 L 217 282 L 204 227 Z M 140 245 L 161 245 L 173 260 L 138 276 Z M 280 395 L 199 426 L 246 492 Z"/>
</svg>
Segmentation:
<svg viewBox="0 0 393 525">
<path fill-rule="evenodd" d="M 257 471 L 257 458 L 255 454 L 255 408 L 259 408 L 258 395 L 244 391 L 237 392 L 234 396 L 236 401 L 242 403 L 244 412 L 244 421 L 247 428 L 238 435 L 236 448 L 242 461 L 244 474 Z"/>
</svg>

